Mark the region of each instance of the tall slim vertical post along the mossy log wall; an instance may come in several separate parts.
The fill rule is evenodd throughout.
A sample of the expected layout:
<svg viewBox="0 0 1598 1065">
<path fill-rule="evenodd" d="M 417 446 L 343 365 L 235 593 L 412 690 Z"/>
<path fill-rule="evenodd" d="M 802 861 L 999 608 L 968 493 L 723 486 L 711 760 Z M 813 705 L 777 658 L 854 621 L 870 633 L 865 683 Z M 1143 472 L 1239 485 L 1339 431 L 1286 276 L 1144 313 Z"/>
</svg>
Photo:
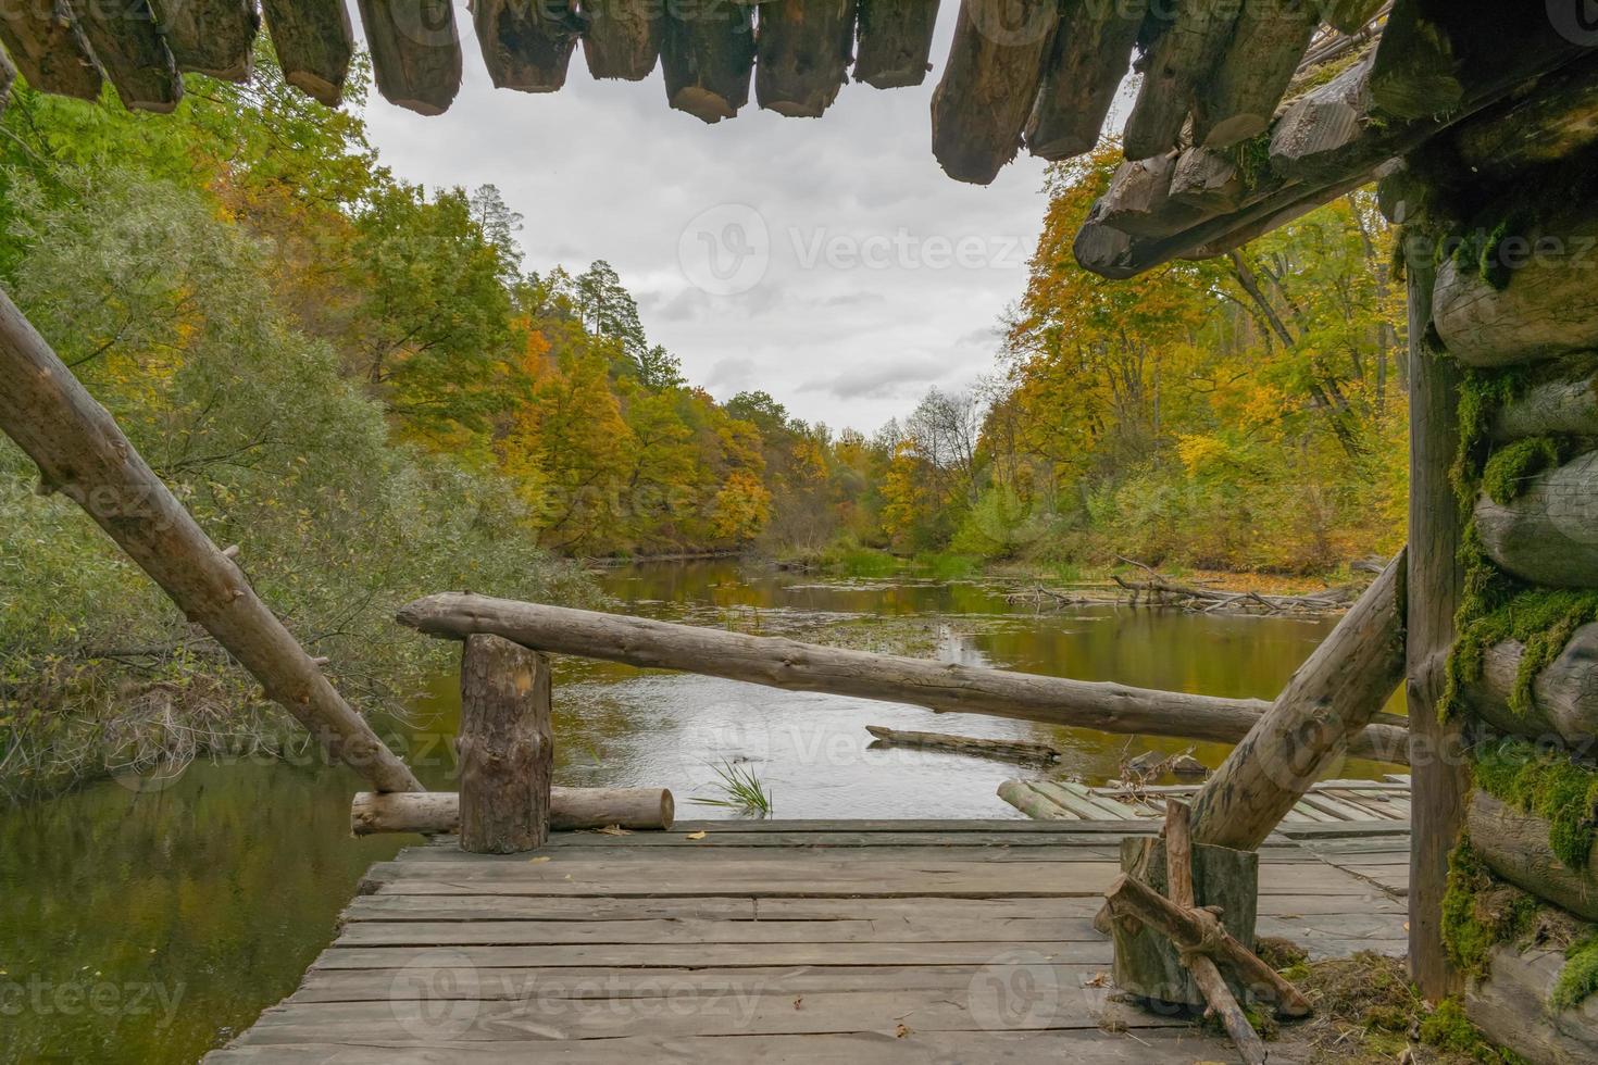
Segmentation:
<svg viewBox="0 0 1598 1065">
<path fill-rule="evenodd" d="M 1467 773 L 1457 725 L 1438 720 L 1443 663 L 1464 588 L 1459 500 L 1448 471 L 1459 450 L 1459 367 L 1432 329 L 1435 238 L 1409 230 L 1409 969 L 1421 993 L 1461 988 L 1443 948 L 1448 854 L 1465 813 Z"/>
</svg>

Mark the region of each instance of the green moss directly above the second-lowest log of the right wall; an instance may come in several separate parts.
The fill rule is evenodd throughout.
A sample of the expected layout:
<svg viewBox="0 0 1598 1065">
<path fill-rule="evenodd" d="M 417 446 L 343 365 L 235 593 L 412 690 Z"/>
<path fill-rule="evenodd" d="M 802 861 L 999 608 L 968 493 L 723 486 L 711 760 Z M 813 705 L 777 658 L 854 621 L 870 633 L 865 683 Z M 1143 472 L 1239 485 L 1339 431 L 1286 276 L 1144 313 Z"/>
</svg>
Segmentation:
<svg viewBox="0 0 1598 1065">
<path fill-rule="evenodd" d="M 1475 752 L 1472 773 L 1489 795 L 1548 822 L 1548 846 L 1585 869 L 1598 829 L 1598 773 L 1524 739 L 1497 739 Z"/>
</svg>

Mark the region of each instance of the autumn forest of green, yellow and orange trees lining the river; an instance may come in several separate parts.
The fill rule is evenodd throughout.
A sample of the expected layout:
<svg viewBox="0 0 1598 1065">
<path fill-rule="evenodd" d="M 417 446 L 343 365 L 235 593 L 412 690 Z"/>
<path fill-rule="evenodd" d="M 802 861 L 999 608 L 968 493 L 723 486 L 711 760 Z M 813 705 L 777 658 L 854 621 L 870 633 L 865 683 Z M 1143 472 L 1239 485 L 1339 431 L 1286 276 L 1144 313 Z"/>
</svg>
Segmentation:
<svg viewBox="0 0 1598 1065">
<path fill-rule="evenodd" d="M 1401 540 L 1400 294 L 1369 196 L 1136 283 L 1048 174 L 997 364 L 863 434 L 714 399 L 596 249 L 535 273 L 492 187 L 390 172 L 358 113 L 190 77 L 176 115 L 13 89 L 0 279 L 336 683 L 438 664 L 393 608 L 593 602 L 572 559 L 960 552 L 1314 572 Z M 358 64 L 350 96 L 368 81 Z M 275 712 L 0 441 L 0 787 L 276 742 Z"/>
</svg>

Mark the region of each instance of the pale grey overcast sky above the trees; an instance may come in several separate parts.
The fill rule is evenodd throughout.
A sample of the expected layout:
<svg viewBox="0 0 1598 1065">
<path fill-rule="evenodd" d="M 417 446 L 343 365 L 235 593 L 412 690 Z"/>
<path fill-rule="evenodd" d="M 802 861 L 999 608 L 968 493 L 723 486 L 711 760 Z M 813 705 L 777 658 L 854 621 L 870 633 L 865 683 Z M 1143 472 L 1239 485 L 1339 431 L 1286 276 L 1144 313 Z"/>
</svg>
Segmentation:
<svg viewBox="0 0 1598 1065">
<path fill-rule="evenodd" d="M 871 431 L 930 385 L 992 369 L 1042 225 L 1039 160 L 981 188 L 932 158 L 957 6 L 943 5 L 922 86 L 850 83 L 821 120 L 759 110 L 751 93 L 737 118 L 705 125 L 666 107 L 658 65 L 594 81 L 580 48 L 559 93 L 494 89 L 459 3 L 465 80 L 449 112 L 422 118 L 374 89 L 366 120 L 401 177 L 497 185 L 524 216 L 529 268 L 609 260 L 689 380 Z"/>
</svg>

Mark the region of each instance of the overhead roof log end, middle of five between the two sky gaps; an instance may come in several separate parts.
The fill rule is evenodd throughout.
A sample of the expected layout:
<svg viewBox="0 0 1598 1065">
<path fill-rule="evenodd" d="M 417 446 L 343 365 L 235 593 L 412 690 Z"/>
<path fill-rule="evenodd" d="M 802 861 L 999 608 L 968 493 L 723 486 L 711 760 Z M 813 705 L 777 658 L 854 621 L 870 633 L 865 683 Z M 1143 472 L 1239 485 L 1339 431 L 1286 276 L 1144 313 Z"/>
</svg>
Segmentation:
<svg viewBox="0 0 1598 1065">
<path fill-rule="evenodd" d="M 737 117 L 749 102 L 754 6 L 733 0 L 666 5 L 660 65 L 671 107 L 706 123 Z"/>
</svg>

